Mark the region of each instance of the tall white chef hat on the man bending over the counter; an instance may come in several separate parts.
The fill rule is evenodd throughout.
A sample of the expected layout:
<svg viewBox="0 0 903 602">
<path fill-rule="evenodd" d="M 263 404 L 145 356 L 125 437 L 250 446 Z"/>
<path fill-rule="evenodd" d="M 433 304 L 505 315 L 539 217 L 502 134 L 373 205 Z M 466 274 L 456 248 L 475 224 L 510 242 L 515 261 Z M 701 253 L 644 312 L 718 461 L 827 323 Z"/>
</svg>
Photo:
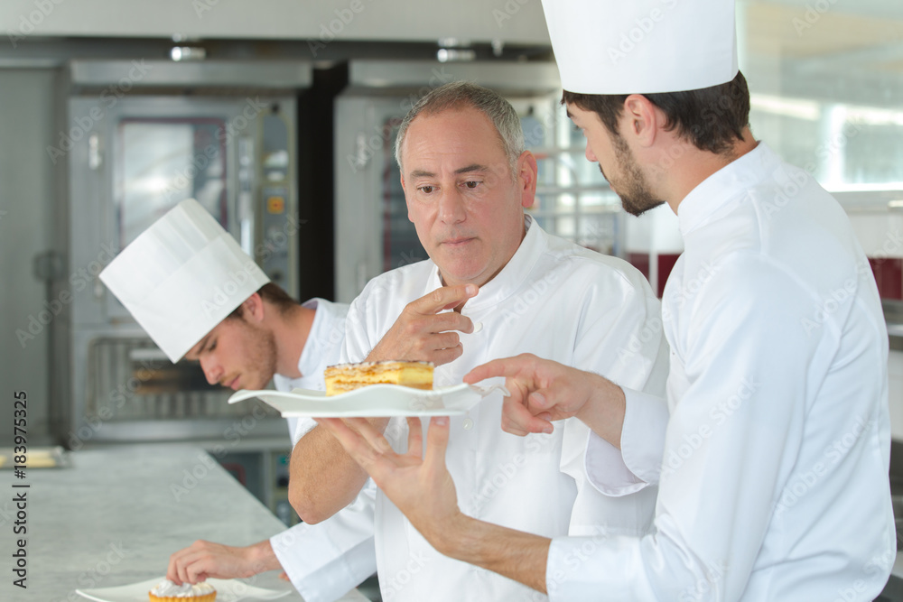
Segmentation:
<svg viewBox="0 0 903 602">
<path fill-rule="evenodd" d="M 194 199 L 144 230 L 100 280 L 173 362 L 270 282 Z"/>
</svg>

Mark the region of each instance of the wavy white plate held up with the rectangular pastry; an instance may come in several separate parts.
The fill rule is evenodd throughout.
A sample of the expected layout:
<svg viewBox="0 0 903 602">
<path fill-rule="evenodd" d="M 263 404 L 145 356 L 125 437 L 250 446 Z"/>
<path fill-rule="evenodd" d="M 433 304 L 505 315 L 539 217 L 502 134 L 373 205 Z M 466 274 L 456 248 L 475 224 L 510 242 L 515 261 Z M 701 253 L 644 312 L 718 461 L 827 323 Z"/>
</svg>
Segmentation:
<svg viewBox="0 0 903 602">
<path fill-rule="evenodd" d="M 371 384 L 327 397 L 322 391 L 237 391 L 228 403 L 257 397 L 285 418 L 349 418 L 353 416 L 454 416 L 463 414 L 494 390 L 505 387 L 455 384 L 430 391 L 399 384 Z"/>
</svg>

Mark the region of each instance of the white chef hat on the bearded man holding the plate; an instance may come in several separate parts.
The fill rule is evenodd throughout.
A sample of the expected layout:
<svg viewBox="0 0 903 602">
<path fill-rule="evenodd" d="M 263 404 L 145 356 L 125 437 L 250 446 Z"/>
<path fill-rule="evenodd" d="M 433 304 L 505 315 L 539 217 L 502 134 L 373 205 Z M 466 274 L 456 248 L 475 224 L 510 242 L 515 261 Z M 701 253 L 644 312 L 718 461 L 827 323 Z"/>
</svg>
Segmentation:
<svg viewBox="0 0 903 602">
<path fill-rule="evenodd" d="M 737 75 L 734 0 L 543 0 L 543 9 L 569 92 L 679 92 Z"/>
</svg>

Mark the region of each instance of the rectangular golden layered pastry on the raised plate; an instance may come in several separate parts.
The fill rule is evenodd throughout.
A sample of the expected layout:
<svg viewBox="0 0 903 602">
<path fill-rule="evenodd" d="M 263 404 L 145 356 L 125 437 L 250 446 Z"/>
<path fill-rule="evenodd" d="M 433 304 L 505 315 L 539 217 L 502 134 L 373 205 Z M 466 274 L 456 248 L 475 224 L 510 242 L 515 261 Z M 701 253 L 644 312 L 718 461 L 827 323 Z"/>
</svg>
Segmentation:
<svg viewBox="0 0 903 602">
<path fill-rule="evenodd" d="M 433 388 L 433 362 L 362 362 L 329 366 L 326 377 L 326 395 L 338 395 L 354 391 L 368 384 L 403 384 L 415 389 Z"/>
</svg>

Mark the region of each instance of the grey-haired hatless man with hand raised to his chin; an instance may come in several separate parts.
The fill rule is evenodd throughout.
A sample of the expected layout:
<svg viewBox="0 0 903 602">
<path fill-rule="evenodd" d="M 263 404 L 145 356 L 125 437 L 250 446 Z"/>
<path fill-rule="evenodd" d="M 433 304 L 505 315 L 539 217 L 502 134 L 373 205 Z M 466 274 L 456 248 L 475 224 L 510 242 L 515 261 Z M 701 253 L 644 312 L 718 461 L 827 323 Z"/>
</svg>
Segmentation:
<svg viewBox="0 0 903 602">
<path fill-rule="evenodd" d="M 405 117 L 396 148 L 408 216 L 430 259 L 368 283 L 351 303 L 344 359 L 433 359 L 441 364 L 435 384 L 442 386 L 460 383 L 489 359 L 526 350 L 663 390 L 666 348 L 648 282 L 629 264 L 550 236 L 526 217 L 536 162 L 524 151 L 520 121 L 507 100 L 465 82 L 436 88 Z M 441 312 L 455 307 L 459 311 Z M 631 341 L 637 352 L 626 358 L 619 351 Z M 589 431 L 582 422 L 517 437 L 499 428 L 502 404 L 501 394 L 490 394 L 469 415 L 451 420 L 448 461 L 465 512 L 548 537 L 646 533 L 654 487 L 606 497 L 586 486 L 582 458 Z M 405 444 L 405 421 L 374 422 L 393 444 Z M 414 425 L 419 429 L 420 422 Z M 303 449 L 308 438 L 301 440 L 290 486 L 320 479 L 331 484 L 324 493 L 357 493 L 354 486 L 366 473 L 329 432 L 318 428 L 308 437 L 317 431 L 331 445 Z M 328 460 L 323 474 L 304 474 L 311 466 L 305 453 Z M 340 481 L 340 468 L 353 468 L 350 474 L 360 473 L 361 480 Z M 349 490 L 337 491 L 340 484 Z M 312 513 L 299 511 L 303 518 Z M 378 492 L 375 533 L 383 599 L 542 597 L 443 556 Z"/>
</svg>

